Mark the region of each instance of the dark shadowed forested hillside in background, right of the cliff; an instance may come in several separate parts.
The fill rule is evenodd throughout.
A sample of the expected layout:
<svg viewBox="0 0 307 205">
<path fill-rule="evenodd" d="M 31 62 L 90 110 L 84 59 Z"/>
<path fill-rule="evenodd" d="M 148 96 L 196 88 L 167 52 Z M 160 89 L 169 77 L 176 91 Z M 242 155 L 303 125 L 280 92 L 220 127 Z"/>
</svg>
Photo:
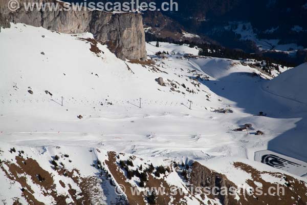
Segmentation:
<svg viewBox="0 0 307 205">
<path fill-rule="evenodd" d="M 80 2 L 73 0 L 70 2 Z M 94 2 L 108 2 L 94 0 Z M 130 2 L 119 0 L 119 2 Z M 150 2 L 150 0 L 140 0 Z M 156 0 L 157 5 L 165 0 Z M 179 6 L 178 11 L 143 12 L 144 28 L 152 38 L 189 40 L 194 43 L 210 43 L 229 49 L 239 49 L 246 53 L 270 51 L 270 57 L 300 64 L 307 56 L 307 0 L 173 0 Z M 159 6 L 158 6 L 159 7 Z M 231 24 L 234 23 L 234 24 Z M 261 48 L 254 39 L 244 39 L 234 30 L 239 24 L 250 24 L 256 39 L 277 39 L 277 45 L 296 44 L 283 53 L 275 53 L 277 45 Z M 228 29 L 226 29 L 228 27 Z M 229 29 L 231 27 L 231 29 Z M 198 34 L 200 38 L 184 38 L 183 33 Z M 276 49 L 279 50 L 279 49 Z M 290 56 L 287 51 L 292 51 Z M 262 55 L 262 54 L 261 54 Z M 266 53 L 265 55 L 268 55 Z"/>
</svg>

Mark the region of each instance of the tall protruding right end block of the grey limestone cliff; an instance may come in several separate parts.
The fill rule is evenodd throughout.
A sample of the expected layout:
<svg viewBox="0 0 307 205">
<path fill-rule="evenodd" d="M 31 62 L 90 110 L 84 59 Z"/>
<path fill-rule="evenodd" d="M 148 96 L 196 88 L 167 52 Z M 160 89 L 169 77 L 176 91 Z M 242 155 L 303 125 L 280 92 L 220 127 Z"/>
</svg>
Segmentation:
<svg viewBox="0 0 307 205">
<path fill-rule="evenodd" d="M 90 32 L 106 42 L 119 58 L 145 59 L 145 33 L 142 16 L 136 13 L 93 11 Z"/>
</svg>

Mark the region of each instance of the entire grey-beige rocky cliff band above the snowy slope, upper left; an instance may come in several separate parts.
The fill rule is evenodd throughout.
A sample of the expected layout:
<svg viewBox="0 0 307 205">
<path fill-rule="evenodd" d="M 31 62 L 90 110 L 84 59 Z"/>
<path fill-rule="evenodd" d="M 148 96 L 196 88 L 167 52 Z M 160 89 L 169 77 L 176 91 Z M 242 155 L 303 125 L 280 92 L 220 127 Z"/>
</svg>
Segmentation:
<svg viewBox="0 0 307 205">
<path fill-rule="evenodd" d="M 26 1 L 22 1 L 26 2 Z M 38 2 L 37 0 L 31 2 Z M 145 59 L 145 34 L 139 13 L 109 13 L 103 11 L 25 11 L 23 4 L 15 12 L 8 9 L 8 0 L 0 2 L 0 27 L 10 22 L 43 27 L 62 33 L 91 32 L 106 43 L 121 59 Z M 63 8 L 62 6 L 60 6 Z"/>
</svg>

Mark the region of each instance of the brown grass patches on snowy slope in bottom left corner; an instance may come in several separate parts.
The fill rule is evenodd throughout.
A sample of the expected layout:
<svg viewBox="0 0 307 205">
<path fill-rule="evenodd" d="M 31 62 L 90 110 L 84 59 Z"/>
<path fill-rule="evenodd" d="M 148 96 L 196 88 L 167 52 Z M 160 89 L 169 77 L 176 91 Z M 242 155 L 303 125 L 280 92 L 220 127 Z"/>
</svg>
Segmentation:
<svg viewBox="0 0 307 205">
<path fill-rule="evenodd" d="M 59 183 L 63 188 L 68 186 L 70 189 L 68 193 L 66 193 L 66 196 L 58 195 L 52 174 L 50 174 L 46 170 L 43 170 L 36 160 L 32 158 L 24 159 L 23 157 L 19 156 L 16 156 L 15 159 L 16 164 L 11 163 L 10 161 L 3 162 L 9 168 L 8 171 L 6 171 L 3 165 L 1 165 L 0 168 L 4 171 L 5 175 L 9 179 L 16 181 L 20 184 L 20 191 L 23 192 L 22 196 L 25 197 L 29 204 L 40 205 L 43 203 L 35 199 L 35 197 L 33 196 L 34 191 L 31 189 L 30 185 L 28 185 L 27 178 L 25 175 L 30 176 L 32 183 L 35 183 L 36 185 L 41 187 L 40 190 L 44 196 L 52 196 L 56 203 L 59 205 L 67 204 L 65 202 L 65 199 L 68 198 L 68 195 L 71 195 L 72 199 L 74 200 L 74 204 L 85 205 L 92 204 L 92 200 L 97 199 L 99 197 L 97 195 L 99 195 L 100 192 L 97 187 L 100 186 L 101 181 L 95 176 L 82 178 L 80 177 L 79 171 L 76 169 L 72 171 L 58 169 L 57 173 L 59 175 L 64 175 L 66 177 L 72 178 L 81 190 L 81 193 L 77 194 L 77 191 L 72 189 L 71 185 L 65 185 L 65 183 L 60 180 Z M 76 174 L 74 175 L 74 173 Z M 24 189 L 21 190 L 21 188 Z M 49 191 L 49 193 L 42 190 Z M 16 201 L 18 201 L 18 198 Z M 18 203 L 16 202 L 16 204 Z"/>
</svg>

